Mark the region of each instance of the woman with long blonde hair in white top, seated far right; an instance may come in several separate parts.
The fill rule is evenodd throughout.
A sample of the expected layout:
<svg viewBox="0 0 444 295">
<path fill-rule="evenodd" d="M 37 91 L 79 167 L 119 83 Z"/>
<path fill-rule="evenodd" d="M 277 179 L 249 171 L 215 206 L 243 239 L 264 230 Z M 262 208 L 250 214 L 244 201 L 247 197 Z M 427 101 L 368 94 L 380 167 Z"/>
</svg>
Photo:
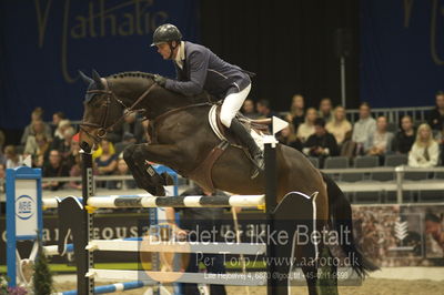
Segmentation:
<svg viewBox="0 0 444 295">
<path fill-rule="evenodd" d="M 433 167 L 437 165 L 440 149 L 432 135 L 428 124 L 417 128 L 416 141 L 408 153 L 408 165 L 412 167 Z"/>
</svg>

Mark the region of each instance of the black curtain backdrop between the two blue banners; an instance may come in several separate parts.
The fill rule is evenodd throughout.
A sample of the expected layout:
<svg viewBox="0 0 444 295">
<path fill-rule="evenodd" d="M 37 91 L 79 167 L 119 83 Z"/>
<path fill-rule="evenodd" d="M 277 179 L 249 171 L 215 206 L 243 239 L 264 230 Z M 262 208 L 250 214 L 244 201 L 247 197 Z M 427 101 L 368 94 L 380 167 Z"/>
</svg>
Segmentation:
<svg viewBox="0 0 444 295">
<path fill-rule="evenodd" d="M 251 98 L 287 110 L 303 93 L 317 106 L 323 96 L 341 102 L 336 29 L 352 32 L 359 50 L 359 1 L 201 0 L 201 39 L 222 59 L 255 72 Z M 346 67 L 347 108 L 357 104 L 359 55 Z"/>
</svg>

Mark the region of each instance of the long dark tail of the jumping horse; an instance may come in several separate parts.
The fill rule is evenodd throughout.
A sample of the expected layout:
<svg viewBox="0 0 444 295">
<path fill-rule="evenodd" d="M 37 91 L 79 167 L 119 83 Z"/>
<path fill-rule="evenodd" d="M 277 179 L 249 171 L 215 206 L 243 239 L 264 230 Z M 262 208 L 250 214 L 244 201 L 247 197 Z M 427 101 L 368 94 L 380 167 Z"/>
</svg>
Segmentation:
<svg viewBox="0 0 444 295">
<path fill-rule="evenodd" d="M 344 233 L 344 231 L 350 233 L 351 236 L 345 243 L 340 241 L 342 242 L 341 247 L 344 251 L 345 256 L 351 258 L 352 268 L 360 277 L 365 277 L 369 272 L 377 271 L 380 267 L 367 260 L 355 244 L 352 206 L 345 197 L 345 194 L 329 175 L 322 173 L 322 176 L 326 183 L 332 230 L 336 230 L 337 233 Z"/>
</svg>

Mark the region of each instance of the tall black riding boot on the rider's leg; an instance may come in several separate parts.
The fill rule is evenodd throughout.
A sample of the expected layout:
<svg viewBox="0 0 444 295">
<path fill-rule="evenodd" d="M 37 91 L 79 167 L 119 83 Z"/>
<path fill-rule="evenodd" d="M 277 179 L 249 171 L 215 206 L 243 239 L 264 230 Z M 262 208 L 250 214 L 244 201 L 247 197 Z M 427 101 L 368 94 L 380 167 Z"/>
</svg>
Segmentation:
<svg viewBox="0 0 444 295">
<path fill-rule="evenodd" d="M 236 119 L 231 121 L 230 131 L 240 139 L 242 145 L 249 150 L 251 157 L 254 160 L 255 169 L 251 175 L 251 179 L 254 179 L 264 169 L 264 157 L 261 149 L 259 149 L 251 134 Z"/>
</svg>

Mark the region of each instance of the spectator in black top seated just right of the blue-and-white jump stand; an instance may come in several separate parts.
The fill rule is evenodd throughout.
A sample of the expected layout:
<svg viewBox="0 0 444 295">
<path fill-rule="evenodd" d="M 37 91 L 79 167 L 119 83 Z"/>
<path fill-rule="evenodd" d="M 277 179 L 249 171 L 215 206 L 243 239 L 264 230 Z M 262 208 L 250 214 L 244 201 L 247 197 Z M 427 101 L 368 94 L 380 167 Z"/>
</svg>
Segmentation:
<svg viewBox="0 0 444 295">
<path fill-rule="evenodd" d="M 59 151 L 51 150 L 49 152 L 49 161 L 43 165 L 43 177 L 63 177 L 69 176 L 69 169 L 62 162 Z M 51 181 L 43 182 L 42 187 L 57 191 L 63 186 L 63 182 Z"/>
</svg>

